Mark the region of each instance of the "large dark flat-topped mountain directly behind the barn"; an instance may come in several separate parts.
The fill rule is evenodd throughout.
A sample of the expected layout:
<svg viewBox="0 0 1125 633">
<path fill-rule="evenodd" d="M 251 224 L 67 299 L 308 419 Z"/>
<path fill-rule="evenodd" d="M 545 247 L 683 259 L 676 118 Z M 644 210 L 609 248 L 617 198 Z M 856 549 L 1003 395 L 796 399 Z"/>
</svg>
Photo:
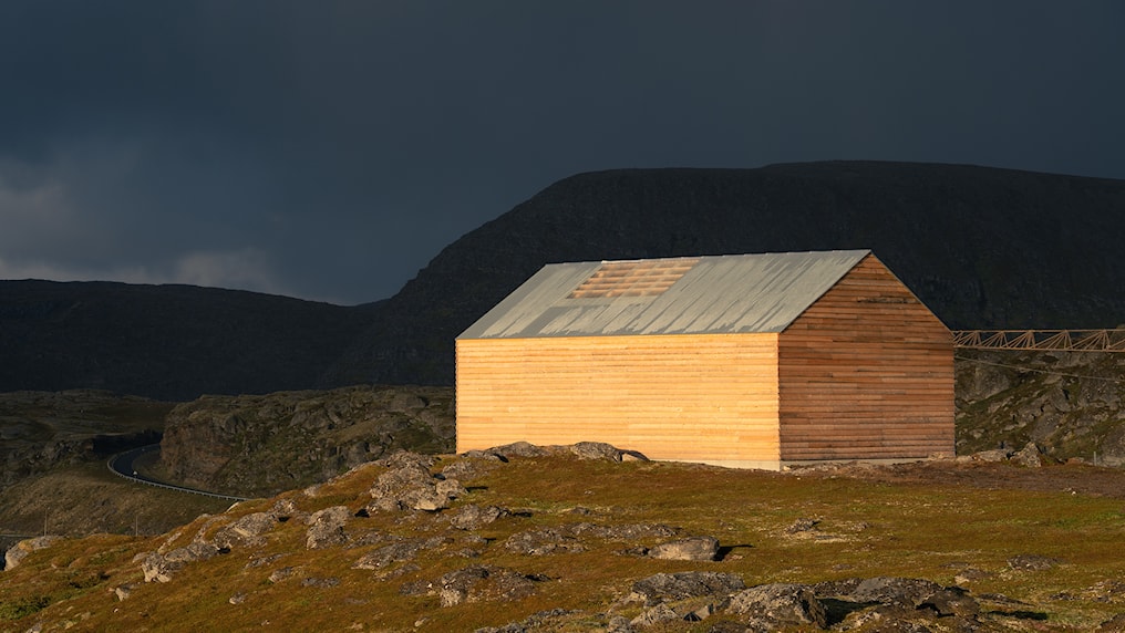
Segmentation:
<svg viewBox="0 0 1125 633">
<path fill-rule="evenodd" d="M 872 248 L 951 328 L 1125 323 L 1125 181 L 830 162 L 561 180 L 441 252 L 333 381 L 450 383 L 453 340 L 544 263 Z"/>
</svg>

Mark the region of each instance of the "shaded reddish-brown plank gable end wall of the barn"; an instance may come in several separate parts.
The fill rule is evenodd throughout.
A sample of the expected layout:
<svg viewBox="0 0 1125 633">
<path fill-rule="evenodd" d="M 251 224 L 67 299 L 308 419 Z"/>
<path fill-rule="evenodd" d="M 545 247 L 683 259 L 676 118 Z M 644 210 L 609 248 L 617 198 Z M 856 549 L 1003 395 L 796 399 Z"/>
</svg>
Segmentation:
<svg viewBox="0 0 1125 633">
<path fill-rule="evenodd" d="M 778 338 L 783 461 L 953 452 L 953 337 L 867 255 Z"/>
</svg>

